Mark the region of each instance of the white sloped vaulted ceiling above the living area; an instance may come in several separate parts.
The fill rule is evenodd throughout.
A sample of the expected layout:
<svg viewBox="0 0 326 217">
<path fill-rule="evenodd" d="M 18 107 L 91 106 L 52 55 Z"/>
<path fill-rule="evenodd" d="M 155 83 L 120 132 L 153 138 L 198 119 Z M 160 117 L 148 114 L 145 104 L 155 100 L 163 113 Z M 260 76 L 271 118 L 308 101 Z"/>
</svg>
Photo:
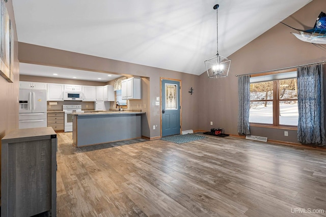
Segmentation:
<svg viewBox="0 0 326 217">
<path fill-rule="evenodd" d="M 18 41 L 200 75 L 311 0 L 13 0 Z M 24 71 L 24 67 L 20 67 Z"/>
</svg>

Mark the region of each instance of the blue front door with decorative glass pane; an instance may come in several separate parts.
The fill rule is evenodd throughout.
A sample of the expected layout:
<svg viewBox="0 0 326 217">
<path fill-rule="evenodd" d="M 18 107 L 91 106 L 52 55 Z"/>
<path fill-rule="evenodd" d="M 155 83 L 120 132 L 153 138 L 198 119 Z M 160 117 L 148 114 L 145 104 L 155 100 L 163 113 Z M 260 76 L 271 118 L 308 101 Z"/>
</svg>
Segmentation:
<svg viewBox="0 0 326 217">
<path fill-rule="evenodd" d="M 180 81 L 161 80 L 162 137 L 180 134 Z"/>
</svg>

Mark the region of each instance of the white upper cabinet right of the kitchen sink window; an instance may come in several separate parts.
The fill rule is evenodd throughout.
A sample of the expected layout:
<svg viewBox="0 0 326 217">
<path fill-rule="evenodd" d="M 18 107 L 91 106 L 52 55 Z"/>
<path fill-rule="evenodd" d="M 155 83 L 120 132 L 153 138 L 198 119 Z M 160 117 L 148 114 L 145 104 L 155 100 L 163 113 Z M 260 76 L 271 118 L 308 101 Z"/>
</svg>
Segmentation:
<svg viewBox="0 0 326 217">
<path fill-rule="evenodd" d="M 121 82 L 121 95 L 123 100 L 142 99 L 141 78 L 128 78 Z"/>
</svg>

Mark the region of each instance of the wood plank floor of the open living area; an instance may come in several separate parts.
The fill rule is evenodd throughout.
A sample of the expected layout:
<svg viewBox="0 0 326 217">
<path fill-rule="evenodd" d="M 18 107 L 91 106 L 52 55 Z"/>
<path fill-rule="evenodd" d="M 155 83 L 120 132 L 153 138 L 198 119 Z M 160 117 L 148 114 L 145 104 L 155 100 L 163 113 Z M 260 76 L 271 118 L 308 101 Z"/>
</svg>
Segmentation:
<svg viewBox="0 0 326 217">
<path fill-rule="evenodd" d="M 326 216 L 326 150 L 212 136 L 76 148 L 71 138 L 58 133 L 58 216 Z"/>
</svg>

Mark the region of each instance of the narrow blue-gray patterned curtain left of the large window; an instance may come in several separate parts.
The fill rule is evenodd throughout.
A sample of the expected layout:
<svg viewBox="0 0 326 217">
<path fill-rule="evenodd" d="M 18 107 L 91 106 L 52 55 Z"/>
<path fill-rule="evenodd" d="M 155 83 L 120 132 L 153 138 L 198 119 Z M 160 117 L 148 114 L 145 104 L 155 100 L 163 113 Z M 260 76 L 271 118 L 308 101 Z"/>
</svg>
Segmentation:
<svg viewBox="0 0 326 217">
<path fill-rule="evenodd" d="M 250 109 L 250 75 L 238 76 L 238 133 L 250 135 L 249 109 Z"/>
</svg>

